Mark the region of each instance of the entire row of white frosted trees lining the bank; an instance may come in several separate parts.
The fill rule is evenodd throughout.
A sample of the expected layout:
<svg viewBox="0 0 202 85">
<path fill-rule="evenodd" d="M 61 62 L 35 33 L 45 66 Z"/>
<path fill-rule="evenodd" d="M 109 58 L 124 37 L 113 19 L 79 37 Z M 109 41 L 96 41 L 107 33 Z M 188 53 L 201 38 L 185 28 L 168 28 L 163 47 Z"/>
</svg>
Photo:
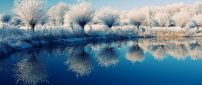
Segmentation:
<svg viewBox="0 0 202 85">
<path fill-rule="evenodd" d="M 1 15 L 1 22 L 14 25 L 27 25 L 34 28 L 37 24 L 53 26 L 80 26 L 103 24 L 108 28 L 116 25 L 149 27 L 200 27 L 202 25 L 202 3 L 172 4 L 167 6 L 142 7 L 129 11 L 118 11 L 111 7 L 95 11 L 92 4 L 80 1 L 69 5 L 64 2 L 46 8 L 46 0 L 15 0 L 14 16 Z"/>
</svg>

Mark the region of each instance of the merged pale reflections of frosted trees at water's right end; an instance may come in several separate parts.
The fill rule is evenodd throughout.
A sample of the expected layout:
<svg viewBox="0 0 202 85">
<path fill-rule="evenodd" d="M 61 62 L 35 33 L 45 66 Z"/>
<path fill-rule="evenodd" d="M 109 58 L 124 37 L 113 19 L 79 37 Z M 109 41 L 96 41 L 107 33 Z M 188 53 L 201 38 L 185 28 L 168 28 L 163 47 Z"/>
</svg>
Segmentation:
<svg viewBox="0 0 202 85">
<path fill-rule="evenodd" d="M 139 44 L 144 51 L 151 52 L 157 60 L 163 60 L 168 55 L 177 60 L 184 60 L 187 57 L 193 60 L 202 58 L 201 38 L 165 39 L 141 39 L 142 42 Z"/>
</svg>

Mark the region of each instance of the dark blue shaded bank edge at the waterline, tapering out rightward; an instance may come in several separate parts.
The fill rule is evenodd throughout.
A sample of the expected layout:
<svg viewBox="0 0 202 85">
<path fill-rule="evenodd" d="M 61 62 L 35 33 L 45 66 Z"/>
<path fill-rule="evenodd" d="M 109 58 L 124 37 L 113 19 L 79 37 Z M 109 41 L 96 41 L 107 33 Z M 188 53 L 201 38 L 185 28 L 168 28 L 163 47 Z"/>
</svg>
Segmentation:
<svg viewBox="0 0 202 85">
<path fill-rule="evenodd" d="M 0 45 L 0 55 L 6 55 L 12 52 L 32 49 L 36 47 L 44 47 L 49 45 L 71 45 L 71 44 L 82 44 L 88 42 L 99 42 L 99 41 L 114 41 L 114 40 L 126 40 L 138 38 L 138 36 L 133 37 L 80 37 L 80 38 L 66 38 L 66 39 L 55 39 L 55 40 L 22 40 L 13 41 L 7 44 Z"/>
</svg>

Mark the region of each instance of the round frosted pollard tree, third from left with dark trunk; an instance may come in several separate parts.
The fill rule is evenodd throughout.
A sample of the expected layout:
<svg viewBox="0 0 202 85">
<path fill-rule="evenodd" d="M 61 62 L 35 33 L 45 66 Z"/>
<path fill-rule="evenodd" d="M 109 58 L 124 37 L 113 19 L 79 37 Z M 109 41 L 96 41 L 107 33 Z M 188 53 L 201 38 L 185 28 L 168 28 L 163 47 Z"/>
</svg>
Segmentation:
<svg viewBox="0 0 202 85">
<path fill-rule="evenodd" d="M 119 13 L 115 9 L 105 7 L 96 13 L 96 20 L 111 28 L 112 26 L 119 24 Z"/>
</svg>

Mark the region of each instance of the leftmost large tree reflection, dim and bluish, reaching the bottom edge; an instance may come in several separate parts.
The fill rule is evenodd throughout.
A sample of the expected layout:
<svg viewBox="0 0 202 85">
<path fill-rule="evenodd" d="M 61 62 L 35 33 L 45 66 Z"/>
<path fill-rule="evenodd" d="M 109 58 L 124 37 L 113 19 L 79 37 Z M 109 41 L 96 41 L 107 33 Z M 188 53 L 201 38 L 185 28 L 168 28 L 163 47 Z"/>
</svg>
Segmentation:
<svg viewBox="0 0 202 85">
<path fill-rule="evenodd" d="M 15 77 L 17 84 L 38 85 L 39 83 L 48 82 L 44 65 L 41 63 L 36 53 L 22 55 L 25 58 L 17 63 Z"/>
</svg>

